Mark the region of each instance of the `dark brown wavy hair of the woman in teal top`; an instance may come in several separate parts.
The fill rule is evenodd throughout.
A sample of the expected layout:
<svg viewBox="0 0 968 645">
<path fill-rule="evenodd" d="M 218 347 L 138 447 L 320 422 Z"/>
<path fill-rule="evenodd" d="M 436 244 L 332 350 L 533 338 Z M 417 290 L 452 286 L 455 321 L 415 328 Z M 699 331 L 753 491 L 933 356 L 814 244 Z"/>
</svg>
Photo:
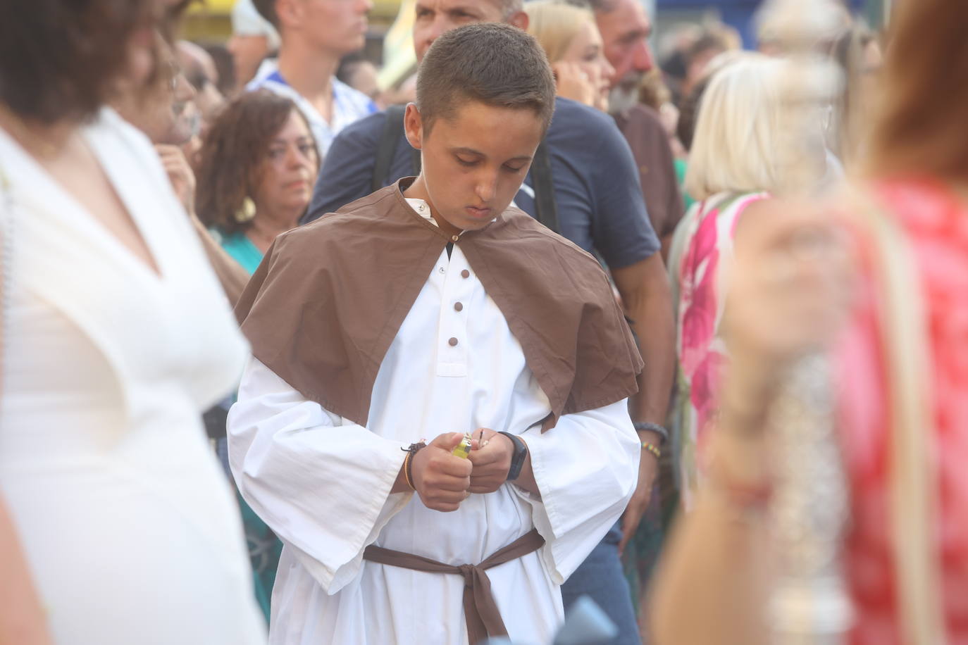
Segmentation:
<svg viewBox="0 0 968 645">
<path fill-rule="evenodd" d="M 293 110 L 305 121 L 291 99 L 269 90 L 246 92 L 222 109 L 199 151 L 195 205 L 202 223 L 227 234 L 252 223 L 239 222 L 235 214 L 256 190 L 269 145 Z M 308 123 L 306 128 L 312 136 Z"/>
</svg>

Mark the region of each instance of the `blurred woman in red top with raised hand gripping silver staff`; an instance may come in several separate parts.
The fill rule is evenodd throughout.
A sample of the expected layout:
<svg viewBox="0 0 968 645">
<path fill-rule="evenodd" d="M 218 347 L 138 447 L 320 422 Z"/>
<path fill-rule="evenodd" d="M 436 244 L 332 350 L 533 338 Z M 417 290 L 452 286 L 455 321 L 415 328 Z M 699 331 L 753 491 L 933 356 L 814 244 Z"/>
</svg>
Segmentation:
<svg viewBox="0 0 968 645">
<path fill-rule="evenodd" d="M 968 641 L 968 85 L 951 82 L 968 69 L 966 24 L 963 0 L 896 3 L 869 178 L 837 206 L 855 271 L 837 271 L 829 251 L 799 253 L 818 223 L 789 213 L 738 239 L 727 320 L 734 362 L 710 485 L 657 582 L 660 645 L 767 642 L 761 512 L 774 473 L 764 417 L 771 384 L 818 345 L 831 349 L 839 376 L 849 642 Z M 837 326 L 847 282 L 857 286 Z"/>
</svg>

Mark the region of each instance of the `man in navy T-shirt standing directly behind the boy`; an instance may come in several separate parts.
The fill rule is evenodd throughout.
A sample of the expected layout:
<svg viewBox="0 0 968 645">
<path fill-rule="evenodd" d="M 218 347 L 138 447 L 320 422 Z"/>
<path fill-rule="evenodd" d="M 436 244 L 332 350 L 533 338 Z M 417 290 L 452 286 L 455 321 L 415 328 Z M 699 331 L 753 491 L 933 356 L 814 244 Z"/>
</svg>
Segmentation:
<svg viewBox="0 0 968 645">
<path fill-rule="evenodd" d="M 520 0 L 417 0 L 413 43 L 418 60 L 443 32 L 469 22 L 506 22 L 525 29 L 528 15 Z M 386 113 L 348 126 L 333 141 L 322 167 L 313 202 L 303 222 L 316 220 L 374 189 L 378 150 L 387 125 Z M 417 174 L 413 150 L 404 139 L 392 148 L 392 159 L 378 187 Z M 628 145 L 608 115 L 559 98 L 545 138 L 550 161 L 557 230 L 583 249 L 596 252 L 608 266 L 626 315 L 639 337 L 646 368 L 640 380 L 632 419 L 639 422 L 643 444 L 661 445 L 661 424 L 672 389 L 675 336 L 669 285 L 658 240 L 646 213 L 638 168 Z M 532 164 L 515 203 L 531 216 L 538 213 Z M 544 220 L 544 218 L 542 218 Z M 639 484 L 622 520 L 592 551 L 586 563 L 562 587 L 565 607 L 589 594 L 620 627 L 619 643 L 638 643 L 638 630 L 621 574 L 621 532 L 634 533 L 649 505 L 656 471 L 655 453 L 644 448 Z M 583 570 L 585 570 L 583 572 Z"/>
</svg>

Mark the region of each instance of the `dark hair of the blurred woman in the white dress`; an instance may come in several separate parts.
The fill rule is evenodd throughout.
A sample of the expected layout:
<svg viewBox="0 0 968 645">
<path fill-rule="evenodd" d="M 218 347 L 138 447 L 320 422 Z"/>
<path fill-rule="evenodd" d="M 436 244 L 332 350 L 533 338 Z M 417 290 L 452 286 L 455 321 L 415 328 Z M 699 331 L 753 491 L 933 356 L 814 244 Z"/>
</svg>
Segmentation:
<svg viewBox="0 0 968 645">
<path fill-rule="evenodd" d="M 137 29 L 160 26 L 145 0 L 0 2 L 0 103 L 51 125 L 93 117 L 128 63 Z"/>
</svg>

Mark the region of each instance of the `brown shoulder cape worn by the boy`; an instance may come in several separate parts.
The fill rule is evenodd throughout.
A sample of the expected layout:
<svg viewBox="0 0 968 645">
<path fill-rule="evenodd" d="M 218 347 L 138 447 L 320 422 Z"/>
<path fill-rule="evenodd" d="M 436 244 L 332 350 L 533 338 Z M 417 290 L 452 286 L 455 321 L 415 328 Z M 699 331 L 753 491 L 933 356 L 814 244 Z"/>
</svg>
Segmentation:
<svg viewBox="0 0 968 645">
<path fill-rule="evenodd" d="M 359 425 L 380 363 L 450 241 L 409 207 L 411 181 L 279 236 L 235 308 L 261 363 Z M 514 208 L 456 244 L 551 401 L 544 429 L 637 392 L 642 359 L 589 253 Z"/>
</svg>

